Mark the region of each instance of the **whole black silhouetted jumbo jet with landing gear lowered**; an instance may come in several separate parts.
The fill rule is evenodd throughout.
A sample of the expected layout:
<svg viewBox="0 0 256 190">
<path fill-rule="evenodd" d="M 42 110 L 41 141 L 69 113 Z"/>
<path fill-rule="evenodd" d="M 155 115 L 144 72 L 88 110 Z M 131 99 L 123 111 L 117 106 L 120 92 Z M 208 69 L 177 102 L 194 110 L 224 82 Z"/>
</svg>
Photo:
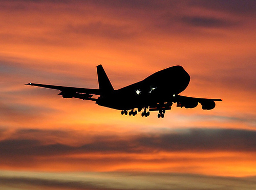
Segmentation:
<svg viewBox="0 0 256 190">
<path fill-rule="evenodd" d="M 109 77 L 102 65 L 97 66 L 99 89 L 65 87 L 28 83 L 26 85 L 60 90 L 63 98 L 79 98 L 95 101 L 100 106 L 120 110 L 122 115 L 135 116 L 138 112 L 142 117 L 150 115 L 151 111 L 158 111 L 158 118 L 164 118 L 166 110 L 177 107 L 194 108 L 200 103 L 203 110 L 215 108 L 215 101 L 222 99 L 208 99 L 181 96 L 190 81 L 189 74 L 182 66 L 176 65 L 160 70 L 140 82 L 114 90 Z M 95 96 L 98 96 L 95 98 Z M 136 110 L 137 109 L 137 110 Z"/>
</svg>

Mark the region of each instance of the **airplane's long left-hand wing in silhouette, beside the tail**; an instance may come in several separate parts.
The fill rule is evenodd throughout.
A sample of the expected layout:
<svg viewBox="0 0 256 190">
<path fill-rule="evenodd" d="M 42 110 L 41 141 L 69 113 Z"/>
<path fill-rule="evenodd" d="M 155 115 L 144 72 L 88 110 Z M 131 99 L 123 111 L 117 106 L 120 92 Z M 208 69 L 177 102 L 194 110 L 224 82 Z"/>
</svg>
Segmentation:
<svg viewBox="0 0 256 190">
<path fill-rule="evenodd" d="M 28 83 L 26 85 L 60 90 L 61 92 L 59 93 L 59 95 L 62 95 L 63 98 L 79 98 L 83 100 L 96 101 L 97 100 L 96 98 L 92 98 L 93 95 L 101 95 L 99 89 L 64 87 L 64 86 L 44 85 L 44 84 L 36 84 L 36 83 Z"/>
</svg>

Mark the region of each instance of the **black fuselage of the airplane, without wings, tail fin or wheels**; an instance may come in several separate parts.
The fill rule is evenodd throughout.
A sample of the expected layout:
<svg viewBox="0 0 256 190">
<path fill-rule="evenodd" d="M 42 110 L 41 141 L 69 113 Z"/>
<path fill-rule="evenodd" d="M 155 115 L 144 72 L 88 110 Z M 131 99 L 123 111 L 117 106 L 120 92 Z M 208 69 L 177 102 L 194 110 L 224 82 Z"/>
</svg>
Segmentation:
<svg viewBox="0 0 256 190">
<path fill-rule="evenodd" d="M 138 83 L 114 90 L 101 96 L 96 103 L 117 110 L 131 110 L 172 101 L 173 95 L 184 91 L 190 81 L 189 74 L 181 66 L 158 71 Z"/>
</svg>

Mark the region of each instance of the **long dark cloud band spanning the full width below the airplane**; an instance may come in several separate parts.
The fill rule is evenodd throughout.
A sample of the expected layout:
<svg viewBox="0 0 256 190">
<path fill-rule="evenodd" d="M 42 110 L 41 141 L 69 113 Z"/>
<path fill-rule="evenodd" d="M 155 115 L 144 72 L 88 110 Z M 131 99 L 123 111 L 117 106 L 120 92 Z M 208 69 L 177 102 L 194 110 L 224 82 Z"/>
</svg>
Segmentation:
<svg viewBox="0 0 256 190">
<path fill-rule="evenodd" d="M 30 129 L 31 130 L 31 129 Z M 22 130 L 31 134 L 46 135 L 49 130 Z M 52 135 L 65 134 L 53 131 Z M 54 135 L 52 138 L 54 138 Z M 78 135 L 78 134 L 77 134 Z M 79 146 L 70 146 L 61 143 L 41 142 L 33 139 L 6 139 L 0 142 L 0 157 L 10 156 L 53 156 L 79 153 L 152 153 L 165 152 L 212 152 L 235 151 L 255 152 L 256 131 L 235 129 L 189 129 L 179 133 L 167 134 L 140 134 L 132 137 L 92 136 L 89 143 Z M 33 138 L 33 136 L 32 136 Z M 86 137 L 84 137 L 86 138 Z M 67 138 L 68 141 L 68 138 Z"/>
</svg>

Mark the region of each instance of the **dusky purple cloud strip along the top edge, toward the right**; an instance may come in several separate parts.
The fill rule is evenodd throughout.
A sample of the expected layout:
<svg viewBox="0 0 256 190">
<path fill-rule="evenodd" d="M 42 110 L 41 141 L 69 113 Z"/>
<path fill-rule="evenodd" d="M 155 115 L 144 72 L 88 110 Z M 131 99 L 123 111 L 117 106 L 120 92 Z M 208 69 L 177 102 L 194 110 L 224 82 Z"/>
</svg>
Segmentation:
<svg viewBox="0 0 256 190">
<path fill-rule="evenodd" d="M 97 6 L 103 6 L 108 8 L 118 8 L 118 9 L 140 9 L 145 11 L 155 11 L 155 10 L 169 10 L 170 12 L 179 8 L 179 10 L 191 8 L 191 7 L 203 7 L 209 10 L 217 10 L 220 12 L 231 12 L 235 14 L 254 14 L 256 4 L 254 0 L 181 0 L 181 1 L 156 1 L 156 0 L 142 0 L 142 1 L 83 1 L 84 3 L 94 4 Z"/>
</svg>

